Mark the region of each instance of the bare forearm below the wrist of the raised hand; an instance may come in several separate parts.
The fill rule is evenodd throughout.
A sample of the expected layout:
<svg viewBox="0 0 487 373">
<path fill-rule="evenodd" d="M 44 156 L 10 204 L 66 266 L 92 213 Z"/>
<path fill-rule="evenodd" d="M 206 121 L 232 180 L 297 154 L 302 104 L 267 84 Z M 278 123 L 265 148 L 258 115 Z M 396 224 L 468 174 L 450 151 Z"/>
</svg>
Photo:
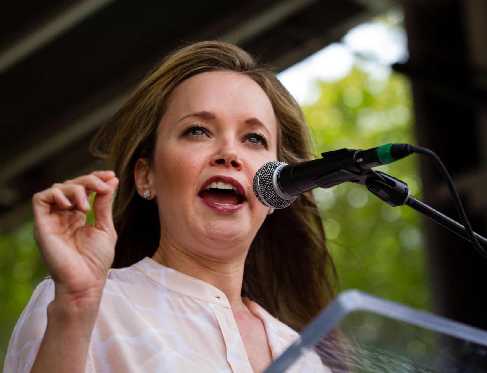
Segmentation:
<svg viewBox="0 0 487 373">
<path fill-rule="evenodd" d="M 84 373 L 99 297 L 59 299 L 47 307 L 47 327 L 32 373 Z"/>
</svg>

